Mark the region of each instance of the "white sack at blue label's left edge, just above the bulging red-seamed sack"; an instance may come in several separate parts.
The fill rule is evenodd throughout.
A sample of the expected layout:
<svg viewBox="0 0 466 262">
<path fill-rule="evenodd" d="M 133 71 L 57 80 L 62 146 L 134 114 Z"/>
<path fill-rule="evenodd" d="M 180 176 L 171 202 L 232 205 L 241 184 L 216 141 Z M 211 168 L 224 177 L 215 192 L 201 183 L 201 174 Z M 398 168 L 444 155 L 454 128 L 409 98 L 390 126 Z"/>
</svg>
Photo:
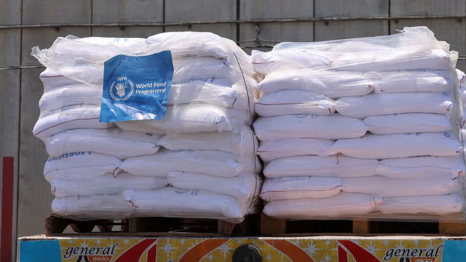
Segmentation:
<svg viewBox="0 0 466 262">
<path fill-rule="evenodd" d="M 68 84 L 56 87 L 39 100 L 41 111 L 52 111 L 76 104 L 92 104 L 100 106 L 102 89 L 87 84 Z"/>
</svg>

